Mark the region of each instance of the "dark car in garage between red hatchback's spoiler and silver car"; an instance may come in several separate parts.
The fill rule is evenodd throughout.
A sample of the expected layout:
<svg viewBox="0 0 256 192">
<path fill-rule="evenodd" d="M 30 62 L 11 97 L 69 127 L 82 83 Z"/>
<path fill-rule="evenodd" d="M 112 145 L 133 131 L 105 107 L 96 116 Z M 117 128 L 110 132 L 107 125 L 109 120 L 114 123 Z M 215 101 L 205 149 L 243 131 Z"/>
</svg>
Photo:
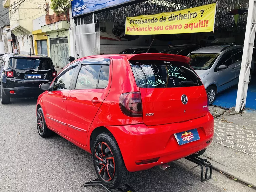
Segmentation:
<svg viewBox="0 0 256 192">
<path fill-rule="evenodd" d="M 191 53 L 194 50 L 199 49 L 200 47 L 201 46 L 198 46 L 195 44 L 175 45 L 175 46 L 171 46 L 169 49 L 160 51 L 159 53 L 187 56 L 189 53 Z"/>
</svg>

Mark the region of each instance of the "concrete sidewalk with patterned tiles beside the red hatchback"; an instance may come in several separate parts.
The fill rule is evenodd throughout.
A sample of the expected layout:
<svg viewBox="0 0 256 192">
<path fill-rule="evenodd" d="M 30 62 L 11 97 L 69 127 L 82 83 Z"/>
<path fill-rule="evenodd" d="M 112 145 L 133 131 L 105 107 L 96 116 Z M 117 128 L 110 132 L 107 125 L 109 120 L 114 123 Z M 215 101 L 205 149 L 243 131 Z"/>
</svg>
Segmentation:
<svg viewBox="0 0 256 192">
<path fill-rule="evenodd" d="M 214 139 L 203 156 L 216 170 L 256 187 L 256 112 L 209 110 L 215 117 Z"/>
</svg>

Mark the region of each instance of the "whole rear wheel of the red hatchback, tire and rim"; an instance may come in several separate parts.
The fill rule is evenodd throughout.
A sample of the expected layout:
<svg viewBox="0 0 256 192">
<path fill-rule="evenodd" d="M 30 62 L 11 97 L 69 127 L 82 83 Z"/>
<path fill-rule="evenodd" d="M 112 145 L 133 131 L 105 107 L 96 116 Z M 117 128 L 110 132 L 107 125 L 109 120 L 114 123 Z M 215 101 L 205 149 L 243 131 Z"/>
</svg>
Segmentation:
<svg viewBox="0 0 256 192">
<path fill-rule="evenodd" d="M 115 189 L 127 184 L 132 173 L 126 169 L 117 141 L 110 132 L 96 137 L 92 154 L 97 176 L 106 187 Z"/>
</svg>

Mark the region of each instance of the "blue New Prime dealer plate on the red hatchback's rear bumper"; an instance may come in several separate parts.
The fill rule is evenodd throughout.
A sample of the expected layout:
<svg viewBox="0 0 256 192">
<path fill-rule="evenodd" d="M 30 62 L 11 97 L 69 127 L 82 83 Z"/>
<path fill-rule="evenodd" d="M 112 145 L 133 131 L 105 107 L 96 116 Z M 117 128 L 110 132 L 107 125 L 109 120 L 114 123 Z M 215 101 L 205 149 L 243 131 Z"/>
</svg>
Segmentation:
<svg viewBox="0 0 256 192">
<path fill-rule="evenodd" d="M 191 130 L 188 130 L 188 131 L 175 133 L 174 136 L 175 136 L 179 145 L 183 145 L 183 144 L 186 144 L 186 143 L 190 143 L 190 142 L 193 142 L 193 141 L 200 140 L 197 129 L 191 129 Z"/>
</svg>

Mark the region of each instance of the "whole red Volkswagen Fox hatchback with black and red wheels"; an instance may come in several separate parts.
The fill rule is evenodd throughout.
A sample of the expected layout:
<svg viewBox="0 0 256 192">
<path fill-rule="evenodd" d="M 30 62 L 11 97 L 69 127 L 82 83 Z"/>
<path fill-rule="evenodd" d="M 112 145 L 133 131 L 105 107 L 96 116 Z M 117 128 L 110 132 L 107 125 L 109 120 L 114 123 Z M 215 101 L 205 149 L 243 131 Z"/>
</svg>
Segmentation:
<svg viewBox="0 0 256 192">
<path fill-rule="evenodd" d="M 214 120 L 205 88 L 188 64 L 170 54 L 85 57 L 41 84 L 37 129 L 52 131 L 93 154 L 109 188 L 131 172 L 202 154 Z"/>
</svg>

